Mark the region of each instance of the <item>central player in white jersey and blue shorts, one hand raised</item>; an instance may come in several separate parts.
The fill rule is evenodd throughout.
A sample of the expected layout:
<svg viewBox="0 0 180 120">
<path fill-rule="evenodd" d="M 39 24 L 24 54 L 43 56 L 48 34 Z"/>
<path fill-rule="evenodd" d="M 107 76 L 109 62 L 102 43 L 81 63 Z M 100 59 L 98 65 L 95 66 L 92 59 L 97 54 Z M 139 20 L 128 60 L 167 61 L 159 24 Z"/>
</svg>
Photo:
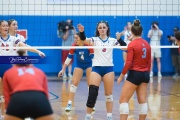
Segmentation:
<svg viewBox="0 0 180 120">
<path fill-rule="evenodd" d="M 81 32 L 81 36 L 85 36 L 84 26 L 79 24 L 78 29 Z M 102 79 L 105 89 L 107 120 L 112 120 L 112 94 L 114 86 L 114 70 L 112 59 L 113 48 L 107 48 L 107 46 L 115 46 L 119 45 L 119 43 L 116 39 L 110 37 L 110 28 L 108 22 L 106 21 L 100 21 L 97 23 L 95 36 L 96 37 L 86 39 L 86 42 L 90 43 L 93 46 L 104 47 L 94 49 L 94 58 L 92 61 L 92 72 L 89 81 L 89 96 L 86 104 L 87 111 L 85 120 L 91 119 L 92 108 L 95 106 L 99 86 Z M 121 40 L 120 42 L 123 41 Z"/>
</svg>

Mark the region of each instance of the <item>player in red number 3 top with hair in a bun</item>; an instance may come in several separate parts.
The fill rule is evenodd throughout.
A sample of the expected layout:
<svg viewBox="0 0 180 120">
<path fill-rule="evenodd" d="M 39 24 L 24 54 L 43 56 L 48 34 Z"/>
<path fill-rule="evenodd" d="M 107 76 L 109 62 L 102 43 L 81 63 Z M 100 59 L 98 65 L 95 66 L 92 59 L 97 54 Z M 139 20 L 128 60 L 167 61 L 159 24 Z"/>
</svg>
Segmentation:
<svg viewBox="0 0 180 120">
<path fill-rule="evenodd" d="M 126 64 L 117 81 L 117 83 L 120 84 L 124 75 L 129 70 L 119 99 L 121 120 L 127 120 L 129 114 L 128 101 L 134 91 L 137 93 L 139 102 L 139 120 L 145 120 L 148 113 L 146 93 L 151 67 L 151 48 L 148 42 L 141 38 L 142 30 L 143 28 L 140 25 L 140 21 L 134 20 L 131 28 L 133 40 L 128 45 Z"/>
</svg>

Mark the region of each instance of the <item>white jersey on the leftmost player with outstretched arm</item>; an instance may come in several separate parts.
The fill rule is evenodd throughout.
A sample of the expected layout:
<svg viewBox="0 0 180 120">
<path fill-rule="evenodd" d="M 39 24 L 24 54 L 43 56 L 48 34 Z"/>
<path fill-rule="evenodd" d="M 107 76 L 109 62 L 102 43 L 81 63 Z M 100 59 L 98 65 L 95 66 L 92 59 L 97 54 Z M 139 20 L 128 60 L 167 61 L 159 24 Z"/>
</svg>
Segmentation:
<svg viewBox="0 0 180 120">
<path fill-rule="evenodd" d="M 20 40 L 16 36 L 10 36 L 8 35 L 8 38 L 4 40 L 0 36 L 0 46 L 2 47 L 9 47 L 8 49 L 0 49 L 0 56 L 14 56 L 17 55 L 12 47 L 16 47 Z"/>
</svg>

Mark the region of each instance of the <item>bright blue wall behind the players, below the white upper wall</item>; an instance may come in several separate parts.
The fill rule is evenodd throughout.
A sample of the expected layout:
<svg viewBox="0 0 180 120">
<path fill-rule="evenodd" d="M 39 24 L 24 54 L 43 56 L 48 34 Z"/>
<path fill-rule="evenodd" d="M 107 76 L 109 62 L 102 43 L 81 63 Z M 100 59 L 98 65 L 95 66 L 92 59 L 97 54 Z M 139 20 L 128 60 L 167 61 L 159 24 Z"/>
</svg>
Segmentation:
<svg viewBox="0 0 180 120">
<path fill-rule="evenodd" d="M 115 37 L 117 31 L 122 31 L 127 21 L 133 21 L 134 16 L 0 16 L 0 20 L 16 19 L 19 29 L 28 30 L 27 43 L 31 46 L 60 46 L 61 39 L 57 37 L 57 23 L 67 18 L 73 19 L 74 26 L 81 23 L 85 26 L 87 37 L 94 36 L 98 21 L 106 20 L 110 24 L 111 36 Z M 172 28 L 179 25 L 176 16 L 140 16 L 143 26 L 143 37 L 147 38 L 148 30 L 152 21 L 158 21 L 163 30 L 161 45 L 170 45 L 166 36 L 172 34 Z M 57 73 L 61 69 L 61 50 L 42 50 L 46 53 L 49 63 L 36 65 L 47 74 Z M 32 54 L 31 54 L 32 55 Z M 170 49 L 162 49 L 162 73 L 173 73 Z M 114 50 L 114 70 L 119 73 L 123 67 L 122 51 Z M 157 71 L 155 64 L 154 71 Z"/>
</svg>

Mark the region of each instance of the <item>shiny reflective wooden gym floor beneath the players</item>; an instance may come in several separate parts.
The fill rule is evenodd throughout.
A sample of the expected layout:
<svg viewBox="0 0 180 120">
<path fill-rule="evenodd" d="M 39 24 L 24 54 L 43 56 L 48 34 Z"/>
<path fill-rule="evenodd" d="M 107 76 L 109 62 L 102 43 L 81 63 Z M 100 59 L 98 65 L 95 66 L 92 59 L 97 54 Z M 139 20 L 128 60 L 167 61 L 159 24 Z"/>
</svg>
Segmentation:
<svg viewBox="0 0 180 120">
<path fill-rule="evenodd" d="M 116 78 L 117 80 L 117 78 Z M 84 120 L 86 112 L 86 100 L 88 97 L 88 88 L 85 78 L 82 78 L 76 91 L 73 102 L 73 111 L 65 112 L 68 101 L 70 80 L 49 78 L 49 95 L 56 120 Z M 124 82 L 117 85 L 114 83 L 114 108 L 113 119 L 119 120 L 119 96 Z M 174 80 L 172 77 L 153 77 L 148 86 L 147 102 L 149 112 L 147 120 L 180 120 L 180 80 Z M 106 119 L 106 107 L 103 83 L 99 89 L 99 95 L 96 102 L 96 112 L 93 114 L 93 120 Z M 128 120 L 138 120 L 138 102 L 136 94 L 129 102 L 130 114 Z"/>
</svg>

